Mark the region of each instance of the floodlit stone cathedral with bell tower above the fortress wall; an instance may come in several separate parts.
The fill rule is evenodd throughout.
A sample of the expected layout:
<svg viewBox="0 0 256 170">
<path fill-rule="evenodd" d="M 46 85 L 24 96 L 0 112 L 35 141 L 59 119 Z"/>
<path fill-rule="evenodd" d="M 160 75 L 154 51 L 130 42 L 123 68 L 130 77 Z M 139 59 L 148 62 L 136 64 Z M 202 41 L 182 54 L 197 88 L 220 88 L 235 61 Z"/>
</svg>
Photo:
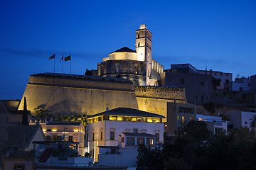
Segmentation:
<svg viewBox="0 0 256 170">
<path fill-rule="evenodd" d="M 135 86 L 157 86 L 164 66 L 152 59 L 152 33 L 145 24 L 136 30 L 135 50 L 122 47 L 97 64 L 101 77 L 120 77 L 131 80 Z"/>
</svg>

